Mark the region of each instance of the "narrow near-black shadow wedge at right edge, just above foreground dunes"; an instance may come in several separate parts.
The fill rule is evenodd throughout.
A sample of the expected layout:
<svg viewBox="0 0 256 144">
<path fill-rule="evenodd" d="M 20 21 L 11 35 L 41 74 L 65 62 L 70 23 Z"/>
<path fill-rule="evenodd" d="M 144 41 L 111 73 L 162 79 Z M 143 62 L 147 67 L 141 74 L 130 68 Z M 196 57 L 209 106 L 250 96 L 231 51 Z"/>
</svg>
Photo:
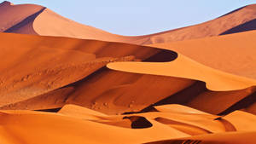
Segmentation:
<svg viewBox="0 0 256 144">
<path fill-rule="evenodd" d="M 248 95 L 247 97 L 243 98 L 241 101 L 236 102 L 236 104 L 232 105 L 228 109 L 224 110 L 224 112 L 218 113 L 218 115 L 227 115 L 230 112 L 234 112 L 236 110 L 240 110 L 242 108 L 249 107 L 253 105 L 253 103 L 256 101 L 256 92 L 254 92 L 252 95 Z"/>
</svg>

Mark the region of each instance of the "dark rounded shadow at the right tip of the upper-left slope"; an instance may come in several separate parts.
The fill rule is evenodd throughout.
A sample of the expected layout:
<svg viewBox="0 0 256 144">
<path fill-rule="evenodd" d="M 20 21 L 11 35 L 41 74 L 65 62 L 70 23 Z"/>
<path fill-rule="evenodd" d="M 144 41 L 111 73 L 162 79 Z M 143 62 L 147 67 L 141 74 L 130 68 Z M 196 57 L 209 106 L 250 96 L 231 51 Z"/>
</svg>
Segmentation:
<svg viewBox="0 0 256 144">
<path fill-rule="evenodd" d="M 168 62 L 177 59 L 177 53 L 172 50 L 162 49 L 159 53 L 143 60 L 147 62 Z"/>
</svg>

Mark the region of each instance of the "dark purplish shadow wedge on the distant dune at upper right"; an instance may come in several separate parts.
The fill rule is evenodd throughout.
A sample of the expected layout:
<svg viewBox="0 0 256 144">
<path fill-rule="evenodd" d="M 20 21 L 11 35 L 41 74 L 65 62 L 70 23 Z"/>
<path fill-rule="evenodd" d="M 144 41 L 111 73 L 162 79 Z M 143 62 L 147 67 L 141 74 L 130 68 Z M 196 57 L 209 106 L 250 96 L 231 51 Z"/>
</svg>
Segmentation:
<svg viewBox="0 0 256 144">
<path fill-rule="evenodd" d="M 256 19 L 250 20 L 244 24 L 231 28 L 230 30 L 221 33 L 220 35 L 226 35 L 231 33 L 238 33 L 238 32 L 247 32 L 256 30 Z"/>
</svg>

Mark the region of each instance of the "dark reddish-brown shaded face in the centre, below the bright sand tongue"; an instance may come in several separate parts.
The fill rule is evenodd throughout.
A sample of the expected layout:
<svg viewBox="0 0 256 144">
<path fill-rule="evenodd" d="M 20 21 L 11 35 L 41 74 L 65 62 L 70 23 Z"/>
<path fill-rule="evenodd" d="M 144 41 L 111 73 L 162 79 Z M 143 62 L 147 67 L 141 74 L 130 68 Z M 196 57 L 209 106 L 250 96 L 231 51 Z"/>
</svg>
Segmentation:
<svg viewBox="0 0 256 144">
<path fill-rule="evenodd" d="M 108 84 L 104 84 L 106 81 Z M 46 107 L 61 107 L 65 103 L 74 103 L 108 113 L 130 112 L 147 107 L 154 101 L 160 101 L 161 98 L 172 95 L 190 84 L 193 84 L 193 81 L 182 78 L 143 76 L 113 72 L 104 68 L 77 83 L 5 108 L 47 109 Z M 145 101 L 148 96 L 152 98 Z M 46 105 L 46 101 L 49 101 L 49 104 Z"/>
</svg>

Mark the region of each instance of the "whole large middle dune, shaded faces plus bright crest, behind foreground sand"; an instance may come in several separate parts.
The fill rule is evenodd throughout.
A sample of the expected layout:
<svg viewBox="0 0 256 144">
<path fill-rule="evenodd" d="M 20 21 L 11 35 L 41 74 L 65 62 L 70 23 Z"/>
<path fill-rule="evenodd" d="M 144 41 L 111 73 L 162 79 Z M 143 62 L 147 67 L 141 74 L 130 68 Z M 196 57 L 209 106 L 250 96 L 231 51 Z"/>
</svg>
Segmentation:
<svg viewBox="0 0 256 144">
<path fill-rule="evenodd" d="M 170 50 L 64 37 L 0 36 L 4 58 L 0 78 L 2 109 L 58 109 L 76 104 L 115 114 L 148 111 L 152 104 L 177 103 L 226 114 L 253 106 L 252 102 L 247 103 L 255 95 L 253 79 L 219 72 Z M 15 43 L 10 45 L 11 41 Z M 16 54 L 8 56 L 13 51 Z M 114 60 L 148 61 L 145 66 L 150 66 L 150 72 L 159 73 L 117 72 L 104 67 Z M 108 66 L 119 64 L 129 63 Z M 151 67 L 155 65 L 160 67 Z M 160 71 L 161 67 L 166 70 Z M 245 110 L 254 112 L 254 108 Z"/>
</svg>

